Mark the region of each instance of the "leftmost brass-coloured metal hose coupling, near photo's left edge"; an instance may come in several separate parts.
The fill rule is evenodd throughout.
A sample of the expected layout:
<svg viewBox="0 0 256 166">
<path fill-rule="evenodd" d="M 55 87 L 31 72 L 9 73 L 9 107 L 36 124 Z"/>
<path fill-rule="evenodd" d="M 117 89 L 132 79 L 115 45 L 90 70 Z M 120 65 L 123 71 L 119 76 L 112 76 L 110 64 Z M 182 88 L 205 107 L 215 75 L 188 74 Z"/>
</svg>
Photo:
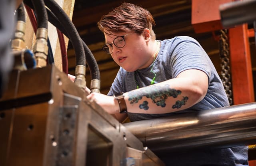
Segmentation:
<svg viewBox="0 0 256 166">
<path fill-rule="evenodd" d="M 21 51 L 22 49 L 26 48 L 26 43 L 24 40 L 25 29 L 26 23 L 24 21 L 17 21 L 14 39 L 12 40 L 13 51 Z"/>
</svg>

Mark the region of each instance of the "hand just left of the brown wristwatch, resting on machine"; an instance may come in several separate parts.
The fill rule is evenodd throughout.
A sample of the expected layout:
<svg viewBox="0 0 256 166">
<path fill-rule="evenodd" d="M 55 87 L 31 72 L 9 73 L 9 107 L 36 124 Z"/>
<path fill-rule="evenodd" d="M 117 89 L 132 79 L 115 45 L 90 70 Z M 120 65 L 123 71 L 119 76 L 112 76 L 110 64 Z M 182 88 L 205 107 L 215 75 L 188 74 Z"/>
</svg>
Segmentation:
<svg viewBox="0 0 256 166">
<path fill-rule="evenodd" d="M 95 101 L 109 114 L 116 114 L 120 111 L 118 101 L 114 99 L 113 96 L 107 96 L 101 93 L 91 93 L 87 96 L 87 99 Z"/>
</svg>

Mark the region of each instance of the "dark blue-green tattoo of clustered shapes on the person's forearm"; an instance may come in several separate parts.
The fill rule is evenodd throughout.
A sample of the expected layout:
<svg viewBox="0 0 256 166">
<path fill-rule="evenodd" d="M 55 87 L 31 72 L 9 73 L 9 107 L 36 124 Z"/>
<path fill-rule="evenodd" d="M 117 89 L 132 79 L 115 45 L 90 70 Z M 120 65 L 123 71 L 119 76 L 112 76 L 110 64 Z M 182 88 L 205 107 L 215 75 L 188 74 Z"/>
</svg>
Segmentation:
<svg viewBox="0 0 256 166">
<path fill-rule="evenodd" d="M 171 89 L 168 84 L 162 87 L 153 85 L 150 87 L 144 87 L 140 91 L 128 92 L 128 100 L 130 101 L 130 104 L 133 105 L 134 103 L 138 103 L 138 101 L 141 100 L 143 96 L 146 96 L 147 98 L 152 99 L 152 102 L 157 106 L 165 107 L 165 101 L 168 97 L 176 98 L 180 94 L 180 90 Z M 188 97 L 183 97 L 182 101 L 176 101 L 176 104 L 172 106 L 172 108 L 180 108 L 182 105 L 185 105 L 187 100 Z M 140 109 L 148 110 L 148 102 L 143 101 L 139 107 Z"/>
</svg>

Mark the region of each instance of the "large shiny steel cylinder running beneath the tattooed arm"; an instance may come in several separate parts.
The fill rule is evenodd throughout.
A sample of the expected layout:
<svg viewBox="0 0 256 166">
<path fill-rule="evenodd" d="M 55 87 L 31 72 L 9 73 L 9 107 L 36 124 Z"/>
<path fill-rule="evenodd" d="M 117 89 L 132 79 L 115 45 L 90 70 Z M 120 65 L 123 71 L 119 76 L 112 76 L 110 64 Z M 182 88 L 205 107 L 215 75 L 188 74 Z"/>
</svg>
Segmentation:
<svg viewBox="0 0 256 166">
<path fill-rule="evenodd" d="M 124 126 L 153 152 L 256 144 L 256 102 Z"/>
</svg>

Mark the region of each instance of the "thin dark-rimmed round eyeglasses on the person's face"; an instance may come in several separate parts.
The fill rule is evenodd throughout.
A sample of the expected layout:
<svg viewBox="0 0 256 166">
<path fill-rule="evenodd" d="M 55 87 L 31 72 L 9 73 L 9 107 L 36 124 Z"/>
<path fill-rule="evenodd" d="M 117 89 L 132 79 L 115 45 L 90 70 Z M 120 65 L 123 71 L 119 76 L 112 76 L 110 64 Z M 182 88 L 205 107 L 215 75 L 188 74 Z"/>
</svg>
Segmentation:
<svg viewBox="0 0 256 166">
<path fill-rule="evenodd" d="M 126 34 L 128 35 L 128 34 Z M 126 36 L 124 35 L 124 36 Z M 125 40 L 124 40 L 124 36 L 118 36 L 116 38 L 114 38 L 113 42 L 114 45 L 118 48 L 122 48 L 125 45 Z M 106 43 L 104 44 L 101 48 L 103 51 L 105 51 L 107 54 L 111 54 L 113 52 L 113 45 L 112 43 Z"/>
</svg>

